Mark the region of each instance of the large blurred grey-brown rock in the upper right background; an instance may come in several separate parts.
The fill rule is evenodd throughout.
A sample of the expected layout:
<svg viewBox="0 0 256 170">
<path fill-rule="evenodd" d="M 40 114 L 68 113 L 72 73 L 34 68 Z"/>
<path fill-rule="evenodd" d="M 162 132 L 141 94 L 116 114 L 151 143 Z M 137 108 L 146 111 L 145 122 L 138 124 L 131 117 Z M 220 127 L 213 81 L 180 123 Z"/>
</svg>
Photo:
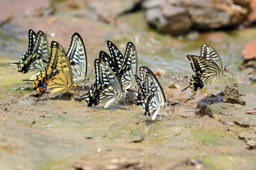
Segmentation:
<svg viewBox="0 0 256 170">
<path fill-rule="evenodd" d="M 184 34 L 192 26 L 208 30 L 240 24 L 248 13 L 247 8 L 228 0 L 147 0 L 142 6 L 152 27 L 172 35 Z"/>
</svg>

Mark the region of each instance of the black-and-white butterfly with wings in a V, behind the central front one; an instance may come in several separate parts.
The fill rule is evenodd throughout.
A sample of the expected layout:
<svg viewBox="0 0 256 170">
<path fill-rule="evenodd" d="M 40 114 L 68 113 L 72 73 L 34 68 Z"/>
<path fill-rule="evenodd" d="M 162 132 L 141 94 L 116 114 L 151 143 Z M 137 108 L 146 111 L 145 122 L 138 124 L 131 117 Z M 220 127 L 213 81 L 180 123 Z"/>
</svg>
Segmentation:
<svg viewBox="0 0 256 170">
<path fill-rule="evenodd" d="M 136 48 L 133 43 L 127 43 L 123 56 L 119 49 L 111 41 L 107 41 L 107 45 L 113 63 L 119 72 L 122 85 L 127 84 L 125 87 L 126 92 L 126 89 L 130 88 L 135 83 L 134 75 L 137 74 L 138 68 Z"/>
</svg>

